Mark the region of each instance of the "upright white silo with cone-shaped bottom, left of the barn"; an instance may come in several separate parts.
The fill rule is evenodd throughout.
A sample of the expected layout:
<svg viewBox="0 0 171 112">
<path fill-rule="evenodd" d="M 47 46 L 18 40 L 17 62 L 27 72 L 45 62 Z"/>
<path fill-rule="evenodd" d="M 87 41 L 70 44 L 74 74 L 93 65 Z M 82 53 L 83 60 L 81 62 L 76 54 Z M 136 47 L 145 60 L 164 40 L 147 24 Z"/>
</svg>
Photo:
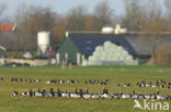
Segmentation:
<svg viewBox="0 0 171 112">
<path fill-rule="evenodd" d="M 45 53 L 50 48 L 50 32 L 39 32 L 37 34 L 37 46 L 41 53 Z"/>
</svg>

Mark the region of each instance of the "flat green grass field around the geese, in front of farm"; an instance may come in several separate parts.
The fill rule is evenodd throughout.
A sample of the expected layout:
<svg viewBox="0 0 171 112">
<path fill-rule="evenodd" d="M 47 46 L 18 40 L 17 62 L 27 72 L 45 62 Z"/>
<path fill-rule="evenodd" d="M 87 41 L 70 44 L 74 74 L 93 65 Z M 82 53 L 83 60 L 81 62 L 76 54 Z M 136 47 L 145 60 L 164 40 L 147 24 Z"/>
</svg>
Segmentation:
<svg viewBox="0 0 171 112">
<path fill-rule="evenodd" d="M 171 95 L 171 90 L 167 88 L 138 88 L 137 82 L 147 79 L 156 82 L 156 79 L 164 79 L 171 82 L 171 69 L 158 66 L 93 66 L 93 67 L 75 67 L 61 70 L 57 66 L 48 67 L 0 67 L 0 78 L 4 82 L 0 83 L 0 112 L 132 112 L 134 100 L 117 99 L 68 99 L 68 98 L 30 98 L 30 97 L 12 97 L 13 90 L 29 91 L 31 88 L 60 88 L 61 90 L 75 91 L 75 88 L 89 88 L 91 92 L 102 92 L 103 87 L 110 92 L 133 92 L 153 94 L 158 90 L 161 94 Z M 12 83 L 11 78 L 41 78 L 38 84 L 32 83 Z M 78 79 L 77 85 L 69 84 L 49 84 L 48 79 Z M 88 79 L 110 79 L 106 86 L 86 85 Z M 132 87 L 116 87 L 116 84 L 132 83 Z M 169 101 L 171 104 L 171 101 Z M 171 110 L 171 108 L 170 108 Z M 135 110 L 139 112 L 140 110 Z"/>
</svg>

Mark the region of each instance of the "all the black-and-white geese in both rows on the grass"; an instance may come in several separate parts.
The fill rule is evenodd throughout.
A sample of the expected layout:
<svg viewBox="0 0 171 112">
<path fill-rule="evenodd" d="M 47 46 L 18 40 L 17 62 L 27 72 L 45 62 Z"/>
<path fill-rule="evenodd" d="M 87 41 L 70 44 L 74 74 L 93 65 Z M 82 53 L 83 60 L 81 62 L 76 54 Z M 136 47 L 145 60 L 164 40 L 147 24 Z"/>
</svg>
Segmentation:
<svg viewBox="0 0 171 112">
<path fill-rule="evenodd" d="M 3 82 L 3 78 L 0 78 L 0 83 Z M 12 83 L 39 83 L 42 79 L 32 79 L 32 78 L 11 78 Z M 45 82 L 46 84 L 79 84 L 79 80 L 75 79 L 50 79 Z M 86 85 L 109 85 L 109 79 L 105 79 L 104 82 L 94 79 L 94 80 L 86 80 Z M 132 87 L 133 85 L 130 83 L 125 84 L 116 84 L 116 87 Z M 150 88 L 168 88 L 171 89 L 171 82 L 167 83 L 162 79 L 157 79 L 155 83 L 147 82 L 146 79 L 138 82 L 135 86 L 139 88 L 150 87 Z M 160 91 L 157 91 L 156 94 L 149 94 L 149 95 L 142 95 L 142 94 L 136 94 L 134 90 L 132 94 L 124 94 L 124 92 L 113 92 L 110 94 L 106 88 L 103 88 L 102 92 L 89 92 L 88 89 L 75 89 L 75 92 L 70 92 L 68 90 L 61 91 L 60 89 L 54 90 L 54 88 L 50 88 L 50 90 L 38 89 L 36 91 L 30 89 L 29 91 L 12 91 L 12 96 L 29 96 L 29 97 L 64 97 L 64 98 L 83 98 L 83 99 L 156 99 L 156 100 L 171 100 L 171 96 L 169 95 L 160 95 Z"/>
</svg>

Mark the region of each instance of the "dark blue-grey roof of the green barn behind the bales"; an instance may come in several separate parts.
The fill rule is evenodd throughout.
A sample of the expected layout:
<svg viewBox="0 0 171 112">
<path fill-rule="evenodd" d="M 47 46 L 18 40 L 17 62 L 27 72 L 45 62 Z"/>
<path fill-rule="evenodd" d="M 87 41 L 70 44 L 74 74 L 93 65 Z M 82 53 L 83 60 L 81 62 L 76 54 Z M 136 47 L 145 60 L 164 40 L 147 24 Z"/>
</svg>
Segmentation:
<svg viewBox="0 0 171 112">
<path fill-rule="evenodd" d="M 96 46 L 102 46 L 105 41 L 119 43 L 129 54 L 137 55 L 132 45 L 124 35 L 104 35 L 101 33 L 70 33 L 69 38 L 77 46 L 82 54 L 91 55 Z"/>
</svg>

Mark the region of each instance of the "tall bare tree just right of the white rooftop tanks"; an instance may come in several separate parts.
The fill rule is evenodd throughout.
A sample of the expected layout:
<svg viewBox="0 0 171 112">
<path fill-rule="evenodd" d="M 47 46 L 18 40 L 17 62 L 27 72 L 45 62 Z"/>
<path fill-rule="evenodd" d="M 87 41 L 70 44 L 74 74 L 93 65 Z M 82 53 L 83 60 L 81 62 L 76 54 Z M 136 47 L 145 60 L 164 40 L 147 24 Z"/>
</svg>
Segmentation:
<svg viewBox="0 0 171 112">
<path fill-rule="evenodd" d="M 146 24 L 146 11 L 141 0 L 124 0 L 123 25 L 129 30 L 140 30 Z"/>
</svg>

